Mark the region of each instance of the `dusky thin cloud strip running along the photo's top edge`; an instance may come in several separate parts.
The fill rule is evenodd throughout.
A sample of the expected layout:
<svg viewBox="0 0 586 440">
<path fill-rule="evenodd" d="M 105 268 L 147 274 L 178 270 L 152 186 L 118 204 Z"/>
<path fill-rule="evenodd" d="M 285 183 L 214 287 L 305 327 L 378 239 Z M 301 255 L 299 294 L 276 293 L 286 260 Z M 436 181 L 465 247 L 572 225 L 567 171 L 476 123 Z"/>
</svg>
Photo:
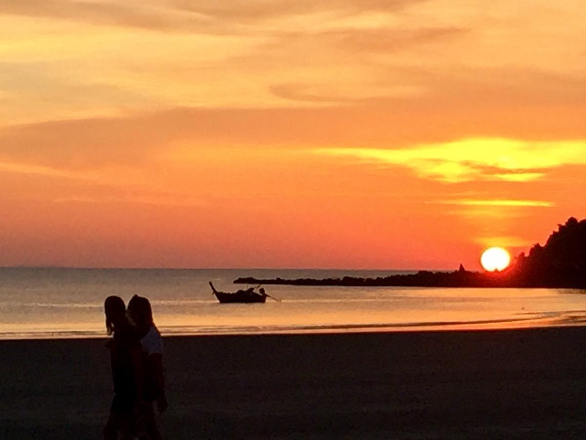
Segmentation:
<svg viewBox="0 0 586 440">
<path fill-rule="evenodd" d="M 235 25 L 284 16 L 335 12 L 397 11 L 426 0 L 0 0 L 0 15 L 46 17 L 95 25 L 128 26 L 158 31 L 236 32 Z M 240 29 L 242 31 L 242 29 Z"/>
</svg>

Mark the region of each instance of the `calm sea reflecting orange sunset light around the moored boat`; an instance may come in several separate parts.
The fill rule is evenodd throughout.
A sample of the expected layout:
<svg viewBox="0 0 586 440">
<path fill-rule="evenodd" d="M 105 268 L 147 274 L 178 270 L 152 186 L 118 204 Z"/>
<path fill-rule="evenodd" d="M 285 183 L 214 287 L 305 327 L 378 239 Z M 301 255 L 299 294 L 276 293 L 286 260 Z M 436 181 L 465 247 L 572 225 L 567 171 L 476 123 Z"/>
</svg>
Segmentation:
<svg viewBox="0 0 586 440">
<path fill-rule="evenodd" d="M 0 269 L 0 339 L 101 336 L 108 295 L 151 300 L 163 334 L 551 326 L 586 322 L 586 292 L 563 289 L 265 286 L 265 304 L 219 304 L 239 276 L 386 276 L 393 271 Z"/>
</svg>

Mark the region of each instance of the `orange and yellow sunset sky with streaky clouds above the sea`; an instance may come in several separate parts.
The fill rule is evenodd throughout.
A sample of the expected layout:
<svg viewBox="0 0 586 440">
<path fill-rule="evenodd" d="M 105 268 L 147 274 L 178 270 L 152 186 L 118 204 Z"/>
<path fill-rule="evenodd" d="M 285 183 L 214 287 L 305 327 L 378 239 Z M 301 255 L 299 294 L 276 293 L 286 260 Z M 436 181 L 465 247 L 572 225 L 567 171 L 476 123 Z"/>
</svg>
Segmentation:
<svg viewBox="0 0 586 440">
<path fill-rule="evenodd" d="M 586 217 L 581 0 L 0 0 L 0 266 L 479 269 Z"/>
</svg>

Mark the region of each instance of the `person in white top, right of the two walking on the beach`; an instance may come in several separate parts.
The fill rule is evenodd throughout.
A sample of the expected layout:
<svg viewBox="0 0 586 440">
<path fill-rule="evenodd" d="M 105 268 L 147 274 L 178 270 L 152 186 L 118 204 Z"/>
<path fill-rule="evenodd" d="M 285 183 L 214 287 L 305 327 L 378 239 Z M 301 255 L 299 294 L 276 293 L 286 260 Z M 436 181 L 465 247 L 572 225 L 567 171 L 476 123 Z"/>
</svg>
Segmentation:
<svg viewBox="0 0 586 440">
<path fill-rule="evenodd" d="M 165 373 L 163 367 L 163 340 L 152 317 L 152 307 L 145 297 L 134 295 L 128 303 L 128 315 L 134 322 L 142 347 L 145 380 L 142 398 L 145 405 L 141 410 L 148 439 L 162 439 L 156 421 L 154 402 L 159 414 L 167 409 L 165 396 Z"/>
</svg>

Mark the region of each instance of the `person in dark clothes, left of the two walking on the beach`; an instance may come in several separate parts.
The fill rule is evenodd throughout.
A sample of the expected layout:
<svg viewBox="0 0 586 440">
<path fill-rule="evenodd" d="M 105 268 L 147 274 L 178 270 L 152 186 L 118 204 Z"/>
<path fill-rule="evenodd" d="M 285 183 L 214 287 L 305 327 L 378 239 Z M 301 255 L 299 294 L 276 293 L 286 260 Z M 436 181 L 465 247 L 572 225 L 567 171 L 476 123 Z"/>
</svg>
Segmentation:
<svg viewBox="0 0 586 440">
<path fill-rule="evenodd" d="M 108 296 L 104 302 L 106 330 L 113 334 L 108 341 L 114 399 L 110 417 L 104 427 L 104 439 L 132 439 L 140 433 L 138 408 L 142 402 L 142 357 L 138 335 L 126 317 L 124 301 Z"/>
</svg>

